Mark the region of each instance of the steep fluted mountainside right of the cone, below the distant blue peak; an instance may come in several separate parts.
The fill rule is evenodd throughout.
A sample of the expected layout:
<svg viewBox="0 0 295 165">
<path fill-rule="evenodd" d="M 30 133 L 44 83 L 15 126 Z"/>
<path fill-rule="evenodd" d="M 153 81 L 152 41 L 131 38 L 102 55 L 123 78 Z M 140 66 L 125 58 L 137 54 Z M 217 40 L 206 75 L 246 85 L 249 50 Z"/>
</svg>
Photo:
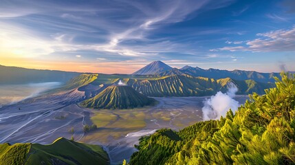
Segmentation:
<svg viewBox="0 0 295 165">
<path fill-rule="evenodd" d="M 230 78 L 193 77 L 187 75 L 174 75 L 158 78 L 156 80 L 134 80 L 129 79 L 127 85 L 146 96 L 210 96 L 217 91 L 226 91 L 226 85 L 232 81 L 237 85 L 237 94 L 251 94 L 256 91 L 264 93 L 264 89 L 274 87 L 272 83 L 258 83 L 252 80 L 232 80 Z"/>
</svg>

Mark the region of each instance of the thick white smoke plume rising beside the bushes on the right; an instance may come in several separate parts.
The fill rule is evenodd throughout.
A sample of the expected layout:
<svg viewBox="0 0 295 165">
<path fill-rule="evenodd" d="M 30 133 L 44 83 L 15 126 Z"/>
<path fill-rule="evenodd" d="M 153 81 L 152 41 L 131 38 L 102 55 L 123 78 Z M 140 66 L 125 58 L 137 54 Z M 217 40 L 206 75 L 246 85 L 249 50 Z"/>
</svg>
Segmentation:
<svg viewBox="0 0 295 165">
<path fill-rule="evenodd" d="M 204 107 L 201 109 L 203 111 L 203 120 L 217 120 L 221 115 L 225 117 L 229 109 L 232 109 L 233 112 L 238 109 L 239 102 L 233 99 L 238 88 L 232 82 L 228 83 L 227 87 L 226 94 L 218 91 L 215 96 L 211 96 L 204 101 Z"/>
</svg>

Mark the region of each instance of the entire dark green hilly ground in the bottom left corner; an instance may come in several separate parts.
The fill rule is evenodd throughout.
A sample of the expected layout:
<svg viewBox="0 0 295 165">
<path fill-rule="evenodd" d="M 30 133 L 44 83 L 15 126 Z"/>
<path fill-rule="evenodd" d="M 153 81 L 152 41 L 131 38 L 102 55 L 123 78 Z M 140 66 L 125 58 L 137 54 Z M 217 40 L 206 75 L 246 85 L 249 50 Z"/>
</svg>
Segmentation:
<svg viewBox="0 0 295 165">
<path fill-rule="evenodd" d="M 0 164 L 109 164 L 101 146 L 58 138 L 50 145 L 0 144 Z"/>
</svg>

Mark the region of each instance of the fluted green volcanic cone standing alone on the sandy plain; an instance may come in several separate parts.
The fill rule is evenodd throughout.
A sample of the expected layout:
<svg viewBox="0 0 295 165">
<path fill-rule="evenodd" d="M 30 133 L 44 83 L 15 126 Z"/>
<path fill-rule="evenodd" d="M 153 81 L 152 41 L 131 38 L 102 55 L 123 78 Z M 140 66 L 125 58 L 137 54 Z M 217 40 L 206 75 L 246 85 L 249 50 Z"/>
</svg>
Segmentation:
<svg viewBox="0 0 295 165">
<path fill-rule="evenodd" d="M 94 98 L 81 102 L 81 105 L 94 109 L 132 109 L 151 105 L 154 102 L 153 98 L 138 93 L 132 87 L 113 85 L 101 91 Z"/>
</svg>

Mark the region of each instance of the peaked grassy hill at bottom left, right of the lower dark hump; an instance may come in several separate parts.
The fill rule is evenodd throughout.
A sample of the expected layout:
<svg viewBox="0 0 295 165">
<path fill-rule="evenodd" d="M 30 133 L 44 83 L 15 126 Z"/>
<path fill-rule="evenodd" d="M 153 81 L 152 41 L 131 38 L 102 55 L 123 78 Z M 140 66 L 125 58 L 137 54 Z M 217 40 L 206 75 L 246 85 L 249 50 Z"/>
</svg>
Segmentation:
<svg viewBox="0 0 295 165">
<path fill-rule="evenodd" d="M 32 144 L 26 164 L 109 164 L 102 147 L 58 138 L 50 145 Z"/>
</svg>

